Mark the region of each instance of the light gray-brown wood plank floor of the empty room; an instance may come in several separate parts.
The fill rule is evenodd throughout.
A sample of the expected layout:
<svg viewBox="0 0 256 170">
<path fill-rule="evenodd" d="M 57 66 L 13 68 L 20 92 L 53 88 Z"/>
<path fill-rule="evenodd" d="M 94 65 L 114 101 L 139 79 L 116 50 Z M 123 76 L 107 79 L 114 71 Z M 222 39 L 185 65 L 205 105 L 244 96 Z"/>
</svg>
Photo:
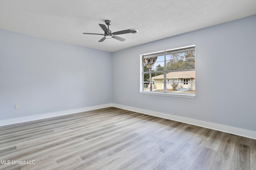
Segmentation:
<svg viewBox="0 0 256 170">
<path fill-rule="evenodd" d="M 256 140 L 108 107 L 2 126 L 0 160 L 4 170 L 256 170 Z"/>
</svg>

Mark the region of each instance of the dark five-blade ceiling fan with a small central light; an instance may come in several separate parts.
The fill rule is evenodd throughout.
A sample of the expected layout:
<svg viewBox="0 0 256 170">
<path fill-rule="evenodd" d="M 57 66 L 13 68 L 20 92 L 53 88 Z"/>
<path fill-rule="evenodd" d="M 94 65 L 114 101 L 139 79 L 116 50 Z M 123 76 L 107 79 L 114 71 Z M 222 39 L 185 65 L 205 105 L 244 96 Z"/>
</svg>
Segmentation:
<svg viewBox="0 0 256 170">
<path fill-rule="evenodd" d="M 100 39 L 100 41 L 98 41 L 98 42 L 102 42 L 106 38 L 114 38 L 114 39 L 117 39 L 119 41 L 125 41 L 124 38 L 118 37 L 116 35 L 126 34 L 126 33 L 133 33 L 134 34 L 134 33 L 138 32 L 137 29 L 126 29 L 126 30 L 116 31 L 116 32 L 112 33 L 112 31 L 109 29 L 109 25 L 111 25 L 112 21 L 111 20 L 105 20 L 105 23 L 106 23 L 106 25 L 108 25 L 108 28 L 106 27 L 106 25 L 99 23 L 100 27 L 104 31 L 104 34 L 98 34 L 98 33 L 83 33 L 83 34 L 104 35 L 104 37 L 102 39 Z"/>
</svg>

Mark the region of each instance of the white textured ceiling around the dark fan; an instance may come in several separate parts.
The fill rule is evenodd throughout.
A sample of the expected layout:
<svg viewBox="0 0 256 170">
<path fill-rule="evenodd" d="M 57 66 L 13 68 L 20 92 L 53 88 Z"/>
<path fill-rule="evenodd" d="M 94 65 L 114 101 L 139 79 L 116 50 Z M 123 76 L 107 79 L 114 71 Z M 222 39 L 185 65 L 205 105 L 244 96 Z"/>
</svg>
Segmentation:
<svg viewBox="0 0 256 170">
<path fill-rule="evenodd" d="M 254 14 L 256 0 L 0 0 L 0 29 L 113 52 Z M 82 34 L 104 33 L 104 20 L 138 33 Z"/>
</svg>

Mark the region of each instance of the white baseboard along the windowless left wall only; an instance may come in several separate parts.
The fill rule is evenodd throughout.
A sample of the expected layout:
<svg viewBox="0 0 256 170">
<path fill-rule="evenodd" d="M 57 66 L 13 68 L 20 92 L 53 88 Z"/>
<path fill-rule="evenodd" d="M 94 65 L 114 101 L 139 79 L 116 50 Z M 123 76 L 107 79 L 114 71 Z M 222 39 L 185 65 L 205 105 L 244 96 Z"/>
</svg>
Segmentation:
<svg viewBox="0 0 256 170">
<path fill-rule="evenodd" d="M 73 113 L 79 113 L 79 112 L 90 111 L 90 110 L 95 110 L 95 109 L 102 109 L 102 108 L 111 107 L 111 106 L 112 106 L 112 104 L 103 104 L 103 105 L 98 105 L 98 106 L 90 106 L 90 107 L 83 107 L 83 108 L 78 108 L 78 109 L 70 109 L 70 110 L 56 111 L 56 112 L 51 112 L 51 113 L 44 113 L 44 114 L 40 114 L 40 115 L 31 115 L 31 116 L 26 116 L 26 117 L 18 117 L 18 118 L 14 118 L 14 119 L 6 119 L 6 120 L 0 121 L 0 126 L 12 125 L 15 123 L 23 123 L 23 122 L 39 120 L 39 119 L 46 119 L 46 118 L 62 116 L 62 115 L 69 115 L 69 114 L 73 114 Z"/>
</svg>

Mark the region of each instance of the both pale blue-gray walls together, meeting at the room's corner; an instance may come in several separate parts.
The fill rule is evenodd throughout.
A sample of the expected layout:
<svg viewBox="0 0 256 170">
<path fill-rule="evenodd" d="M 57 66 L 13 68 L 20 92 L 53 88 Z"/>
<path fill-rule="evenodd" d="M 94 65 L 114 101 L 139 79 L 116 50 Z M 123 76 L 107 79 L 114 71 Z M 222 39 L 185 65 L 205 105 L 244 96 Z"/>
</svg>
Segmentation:
<svg viewBox="0 0 256 170">
<path fill-rule="evenodd" d="M 0 30 L 0 120 L 113 103 L 256 131 L 255 30 L 256 15 L 114 53 Z M 196 98 L 140 94 L 140 55 L 187 45 Z"/>
</svg>

